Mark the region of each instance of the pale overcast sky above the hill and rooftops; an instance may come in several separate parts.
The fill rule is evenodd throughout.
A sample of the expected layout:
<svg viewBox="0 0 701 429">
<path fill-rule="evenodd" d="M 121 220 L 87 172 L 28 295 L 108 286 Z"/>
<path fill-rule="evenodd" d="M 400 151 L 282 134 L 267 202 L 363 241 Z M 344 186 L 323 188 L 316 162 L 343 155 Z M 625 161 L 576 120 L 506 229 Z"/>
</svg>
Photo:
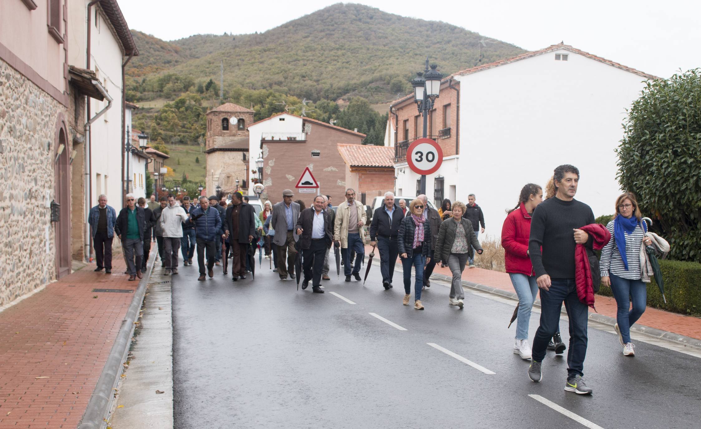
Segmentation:
<svg viewBox="0 0 701 429">
<path fill-rule="evenodd" d="M 264 32 L 338 1 L 118 0 L 132 29 L 164 40 Z M 529 51 L 559 41 L 646 73 L 701 67 L 701 1 L 426 1 L 355 3 L 442 20 Z M 427 8 L 426 5 L 431 7 Z M 421 62 L 421 61 L 419 61 Z"/>
</svg>

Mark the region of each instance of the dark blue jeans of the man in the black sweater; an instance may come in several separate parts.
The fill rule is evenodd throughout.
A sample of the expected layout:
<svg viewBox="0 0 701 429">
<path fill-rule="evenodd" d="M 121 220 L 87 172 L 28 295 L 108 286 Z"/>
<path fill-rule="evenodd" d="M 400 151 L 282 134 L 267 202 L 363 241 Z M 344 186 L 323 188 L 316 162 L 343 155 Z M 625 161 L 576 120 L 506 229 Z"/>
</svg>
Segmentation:
<svg viewBox="0 0 701 429">
<path fill-rule="evenodd" d="M 569 317 L 570 346 L 567 352 L 568 377 L 584 376 L 584 358 L 587 356 L 587 322 L 589 310 L 577 297 L 574 279 L 551 279 L 550 290 L 540 289 L 540 326 L 533 338 L 533 360 L 542 362 L 547 342 L 557 332 L 560 324 L 562 301 Z"/>
</svg>

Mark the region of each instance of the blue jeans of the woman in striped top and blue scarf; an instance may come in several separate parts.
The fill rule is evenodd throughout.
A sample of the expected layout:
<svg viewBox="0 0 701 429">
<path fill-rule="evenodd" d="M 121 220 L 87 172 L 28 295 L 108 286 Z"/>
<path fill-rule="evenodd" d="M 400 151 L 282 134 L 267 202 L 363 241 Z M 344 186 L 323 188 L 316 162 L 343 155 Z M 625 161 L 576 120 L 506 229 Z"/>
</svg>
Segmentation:
<svg viewBox="0 0 701 429">
<path fill-rule="evenodd" d="M 642 280 L 630 280 L 611 274 L 611 291 L 618 304 L 615 319 L 623 343 L 630 343 L 630 326 L 640 319 L 648 301 L 648 289 Z M 632 298 L 632 299 L 630 299 Z M 630 308 L 630 303 L 633 308 Z"/>
</svg>

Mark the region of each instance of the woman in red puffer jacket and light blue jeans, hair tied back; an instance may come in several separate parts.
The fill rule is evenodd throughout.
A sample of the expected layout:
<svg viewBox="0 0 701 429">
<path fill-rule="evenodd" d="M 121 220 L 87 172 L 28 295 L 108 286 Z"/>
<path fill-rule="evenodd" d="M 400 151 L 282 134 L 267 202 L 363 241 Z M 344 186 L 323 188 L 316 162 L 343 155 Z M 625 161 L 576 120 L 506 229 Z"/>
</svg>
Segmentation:
<svg viewBox="0 0 701 429">
<path fill-rule="evenodd" d="M 509 273 L 511 283 L 519 296 L 513 352 L 522 359 L 531 359 L 528 325 L 533 301 L 538 296 L 538 284 L 536 284 L 536 274 L 533 272 L 528 253 L 528 242 L 531 236 L 531 213 L 541 202 L 543 202 L 543 189 L 540 186 L 534 183 L 524 186 L 519 196 L 519 204 L 507 211 L 508 216 L 501 228 L 501 245 L 504 248 L 506 272 Z M 562 353 L 565 345 L 559 338 L 559 332 L 555 334 L 554 339 L 557 345 L 553 343 L 551 350 Z"/>
</svg>

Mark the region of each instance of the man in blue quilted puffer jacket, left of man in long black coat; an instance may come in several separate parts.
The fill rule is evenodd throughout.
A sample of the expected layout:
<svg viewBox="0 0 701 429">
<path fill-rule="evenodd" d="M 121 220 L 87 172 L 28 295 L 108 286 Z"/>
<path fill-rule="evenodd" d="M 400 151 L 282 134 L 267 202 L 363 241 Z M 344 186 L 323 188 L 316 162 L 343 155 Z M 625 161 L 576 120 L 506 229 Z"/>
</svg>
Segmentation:
<svg viewBox="0 0 701 429">
<path fill-rule="evenodd" d="M 198 280 L 205 280 L 205 251 L 207 251 L 207 274 L 210 279 L 214 277 L 215 256 L 217 255 L 217 244 L 222 237 L 222 218 L 219 211 L 210 207 L 207 197 L 200 197 L 200 206 L 192 211 L 192 216 L 185 224 L 195 226 L 197 242 L 197 264 L 200 267 L 200 277 Z"/>
</svg>

